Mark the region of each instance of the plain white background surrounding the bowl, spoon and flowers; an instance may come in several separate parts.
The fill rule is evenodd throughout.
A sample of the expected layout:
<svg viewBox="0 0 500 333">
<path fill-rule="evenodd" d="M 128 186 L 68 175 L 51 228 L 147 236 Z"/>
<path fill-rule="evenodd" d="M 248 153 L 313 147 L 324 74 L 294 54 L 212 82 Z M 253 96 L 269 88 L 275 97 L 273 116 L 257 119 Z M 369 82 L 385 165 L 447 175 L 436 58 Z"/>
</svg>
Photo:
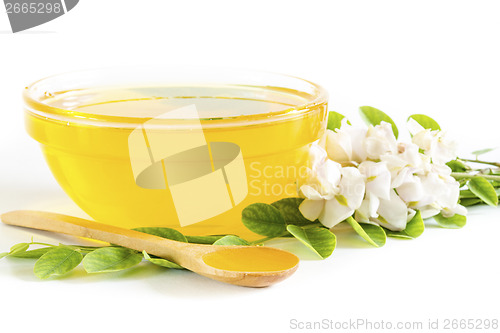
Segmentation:
<svg viewBox="0 0 500 333">
<path fill-rule="evenodd" d="M 432 115 L 461 156 L 499 146 L 498 1 L 82 0 L 12 34 L 0 13 L 0 212 L 85 216 L 59 189 L 25 133 L 21 91 L 39 78 L 109 65 L 217 65 L 303 77 L 330 109 L 360 122 L 371 105 L 399 124 Z M 500 160 L 499 151 L 484 157 Z M 429 227 L 380 249 L 340 235 L 334 254 L 305 259 L 289 280 L 246 289 L 185 271 L 39 281 L 30 260 L 0 261 L 0 331 L 287 332 L 290 320 L 424 321 L 500 317 L 500 212 L 471 209 L 461 230 Z M 0 225 L 0 252 L 70 237 Z M 347 330 L 346 330 L 347 331 Z"/>
</svg>

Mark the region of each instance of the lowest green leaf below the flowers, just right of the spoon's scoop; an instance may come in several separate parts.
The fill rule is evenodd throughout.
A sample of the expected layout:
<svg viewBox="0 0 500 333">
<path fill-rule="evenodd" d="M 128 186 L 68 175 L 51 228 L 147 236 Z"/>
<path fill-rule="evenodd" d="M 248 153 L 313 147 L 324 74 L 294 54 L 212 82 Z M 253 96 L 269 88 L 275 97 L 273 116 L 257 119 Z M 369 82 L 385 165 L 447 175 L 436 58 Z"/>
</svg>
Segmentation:
<svg viewBox="0 0 500 333">
<path fill-rule="evenodd" d="M 337 238 L 328 229 L 323 227 L 302 228 L 293 224 L 287 226 L 287 230 L 305 246 L 313 250 L 321 258 L 328 258 L 335 246 Z"/>
</svg>

